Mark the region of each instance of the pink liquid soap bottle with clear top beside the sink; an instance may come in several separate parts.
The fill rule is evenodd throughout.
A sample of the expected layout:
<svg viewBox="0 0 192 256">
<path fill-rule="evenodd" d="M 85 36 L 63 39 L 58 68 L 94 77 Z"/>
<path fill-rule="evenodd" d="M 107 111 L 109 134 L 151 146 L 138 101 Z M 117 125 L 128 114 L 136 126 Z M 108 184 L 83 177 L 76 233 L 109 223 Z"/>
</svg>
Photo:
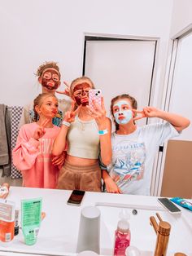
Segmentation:
<svg viewBox="0 0 192 256">
<path fill-rule="evenodd" d="M 130 245 L 129 217 L 126 210 L 120 212 L 120 220 L 115 232 L 114 256 L 125 256 L 125 250 Z"/>
</svg>

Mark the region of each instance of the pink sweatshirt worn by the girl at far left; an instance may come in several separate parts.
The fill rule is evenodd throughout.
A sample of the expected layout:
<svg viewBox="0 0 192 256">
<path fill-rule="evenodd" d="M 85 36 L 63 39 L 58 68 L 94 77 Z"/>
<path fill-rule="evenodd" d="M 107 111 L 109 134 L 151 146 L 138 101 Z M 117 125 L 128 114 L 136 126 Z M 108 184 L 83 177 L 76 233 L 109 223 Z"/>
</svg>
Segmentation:
<svg viewBox="0 0 192 256">
<path fill-rule="evenodd" d="M 52 165 L 51 150 L 60 128 L 45 128 L 46 134 L 33 139 L 36 122 L 20 128 L 16 146 L 13 149 L 13 163 L 23 175 L 23 186 L 30 188 L 56 188 L 59 167 Z"/>
</svg>

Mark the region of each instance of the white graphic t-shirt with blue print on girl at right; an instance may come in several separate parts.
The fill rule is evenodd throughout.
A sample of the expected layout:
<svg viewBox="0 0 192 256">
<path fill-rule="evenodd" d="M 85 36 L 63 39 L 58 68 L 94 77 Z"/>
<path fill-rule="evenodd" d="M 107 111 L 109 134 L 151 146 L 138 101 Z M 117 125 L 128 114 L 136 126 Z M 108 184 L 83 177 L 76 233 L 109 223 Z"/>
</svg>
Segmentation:
<svg viewBox="0 0 192 256">
<path fill-rule="evenodd" d="M 155 154 L 165 140 L 177 135 L 168 122 L 137 127 L 130 135 L 111 135 L 112 161 L 107 170 L 122 192 L 150 194 Z"/>
</svg>

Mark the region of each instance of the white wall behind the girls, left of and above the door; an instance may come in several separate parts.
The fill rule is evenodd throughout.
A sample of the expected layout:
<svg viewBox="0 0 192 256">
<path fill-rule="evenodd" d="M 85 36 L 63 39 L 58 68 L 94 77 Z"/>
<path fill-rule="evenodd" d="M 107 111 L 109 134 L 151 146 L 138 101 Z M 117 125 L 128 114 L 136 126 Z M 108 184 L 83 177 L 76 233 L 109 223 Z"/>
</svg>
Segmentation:
<svg viewBox="0 0 192 256">
<path fill-rule="evenodd" d="M 0 1 L 0 103 L 24 105 L 32 100 L 39 92 L 33 73 L 46 60 L 59 62 L 62 79 L 68 82 L 81 76 L 84 34 L 97 33 L 160 39 L 158 104 L 171 18 L 172 0 Z"/>
</svg>

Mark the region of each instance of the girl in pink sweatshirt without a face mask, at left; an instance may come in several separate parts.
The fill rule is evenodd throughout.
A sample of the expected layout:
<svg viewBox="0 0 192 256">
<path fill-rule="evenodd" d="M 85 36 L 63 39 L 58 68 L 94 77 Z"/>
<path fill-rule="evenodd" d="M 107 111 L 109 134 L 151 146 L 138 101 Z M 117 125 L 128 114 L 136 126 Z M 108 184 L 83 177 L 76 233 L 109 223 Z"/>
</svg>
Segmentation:
<svg viewBox="0 0 192 256">
<path fill-rule="evenodd" d="M 38 95 L 34 99 L 34 112 L 39 120 L 21 126 L 12 152 L 13 163 L 22 173 L 24 187 L 56 188 L 59 167 L 64 161 L 64 153 L 59 157 L 51 154 L 60 130 L 52 124 L 58 113 L 58 99 L 52 94 Z"/>
</svg>

